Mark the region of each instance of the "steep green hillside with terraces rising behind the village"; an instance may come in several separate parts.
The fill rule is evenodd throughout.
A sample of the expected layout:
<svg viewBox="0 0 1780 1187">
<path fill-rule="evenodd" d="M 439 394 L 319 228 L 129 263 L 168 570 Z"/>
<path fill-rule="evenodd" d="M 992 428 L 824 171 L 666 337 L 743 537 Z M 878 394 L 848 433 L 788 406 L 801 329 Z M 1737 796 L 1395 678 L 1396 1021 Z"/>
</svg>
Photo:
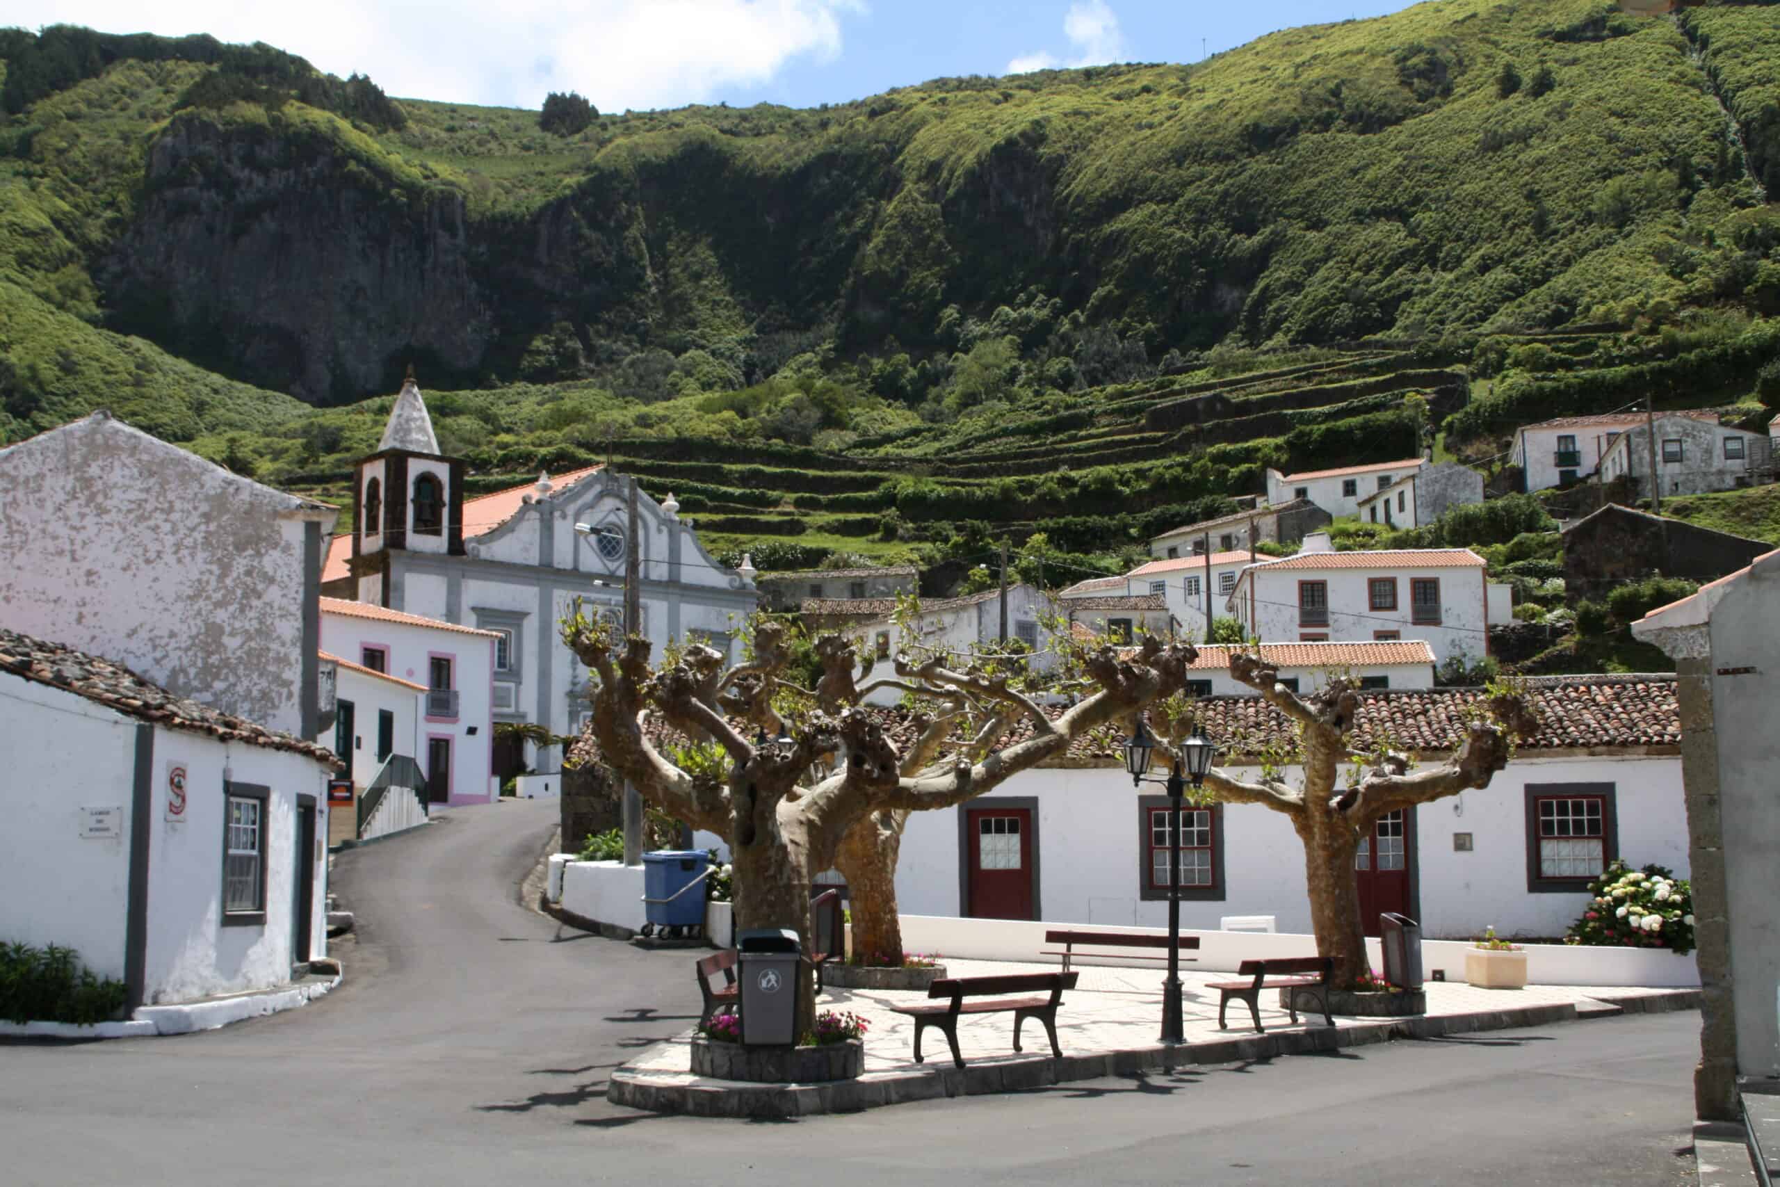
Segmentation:
<svg viewBox="0 0 1780 1187">
<path fill-rule="evenodd" d="M 415 363 L 486 484 L 612 456 L 721 548 L 1093 568 L 1424 408 L 1483 461 L 1780 352 L 1775 4 L 1444 0 L 573 135 L 206 37 L 0 62 L 0 434 L 107 406 L 322 495 Z"/>
</svg>

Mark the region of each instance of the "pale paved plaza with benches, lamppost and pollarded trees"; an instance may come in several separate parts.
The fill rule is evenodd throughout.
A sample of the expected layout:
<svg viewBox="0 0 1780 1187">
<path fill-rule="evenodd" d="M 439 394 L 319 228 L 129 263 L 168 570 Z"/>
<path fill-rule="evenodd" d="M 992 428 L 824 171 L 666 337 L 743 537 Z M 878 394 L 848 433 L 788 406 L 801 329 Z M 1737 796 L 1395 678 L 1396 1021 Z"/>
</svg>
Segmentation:
<svg viewBox="0 0 1780 1187">
<path fill-rule="evenodd" d="M 945 961 L 952 977 L 990 977 L 1006 973 L 1056 972 L 1056 965 L 1002 961 Z M 1009 1091 L 1088 1078 L 1107 1073 L 1141 1071 L 1184 1064 L 1232 1062 L 1273 1055 L 1326 1052 L 1339 1046 L 1383 1043 L 1392 1038 L 1495 1030 L 1501 1027 L 1606 1018 L 1622 1013 L 1691 1007 L 1698 991 L 1527 986 L 1524 989 L 1477 989 L 1463 982 L 1428 982 L 1428 1013 L 1417 1018 L 1335 1018 L 1331 1030 L 1321 1014 L 1299 1013 L 1292 1023 L 1278 1005 L 1278 991 L 1260 995 L 1257 1036 L 1248 1007 L 1232 1000 L 1228 1029 L 1218 1027 L 1216 981 L 1237 981 L 1228 972 L 1182 972 L 1185 1005 L 1185 1048 L 1159 1043 L 1162 1013 L 1162 977 L 1159 968 L 1129 968 L 1111 963 L 1077 961 L 1080 979 L 1063 995 L 1057 1011 L 1057 1043 L 1063 1059 L 1052 1059 L 1043 1025 L 1027 1021 L 1022 1030 L 1024 1054 L 1013 1050 L 1013 1014 L 963 1016 L 958 1046 L 965 1071 L 952 1068 L 951 1050 L 938 1029 L 929 1029 L 922 1055 L 915 1062 L 915 1020 L 892 1011 L 894 1005 L 927 1004 L 926 993 L 890 989 L 826 989 L 817 1009 L 851 1011 L 867 1025 L 865 1075 L 856 1082 L 828 1086 L 740 1084 L 696 1077 L 691 1066 L 691 1030 L 659 1043 L 612 1077 L 612 1100 L 664 1112 L 797 1116 L 863 1109 L 874 1105 Z"/>
</svg>

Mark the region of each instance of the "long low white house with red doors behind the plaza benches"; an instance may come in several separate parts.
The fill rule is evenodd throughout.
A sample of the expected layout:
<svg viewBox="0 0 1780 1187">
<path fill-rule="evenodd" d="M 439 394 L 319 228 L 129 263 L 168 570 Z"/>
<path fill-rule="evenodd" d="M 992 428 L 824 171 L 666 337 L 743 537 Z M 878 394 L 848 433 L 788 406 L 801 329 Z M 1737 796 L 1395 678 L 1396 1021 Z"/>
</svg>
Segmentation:
<svg viewBox="0 0 1780 1187">
<path fill-rule="evenodd" d="M 1687 876 L 1680 792 L 1680 717 L 1673 676 L 1549 676 L 1529 692 L 1540 731 L 1485 790 L 1394 813 L 1362 849 L 1355 877 L 1367 931 L 1381 911 L 1420 922 L 1428 938 L 1559 938 L 1588 904 L 1588 879 L 1613 858 Z M 1356 719 L 1435 762 L 1461 737 L 1476 689 L 1365 692 Z M 1200 701 L 1212 737 L 1255 739 L 1290 726 L 1251 698 Z M 1168 801 L 1134 790 L 1116 758 L 1080 742 L 1059 765 L 1013 776 L 958 808 L 910 815 L 897 865 L 904 915 L 1034 918 L 1050 924 L 1161 927 L 1168 922 Z M 1219 763 L 1225 760 L 1221 758 Z M 1253 778 L 1255 769 L 1232 769 Z M 1298 785 L 1290 767 L 1282 778 Z M 1016 836 L 991 849 L 979 838 Z M 1182 925 L 1273 916 L 1308 933 L 1303 844 L 1260 804 L 1193 808 L 1182 826 Z"/>
</svg>

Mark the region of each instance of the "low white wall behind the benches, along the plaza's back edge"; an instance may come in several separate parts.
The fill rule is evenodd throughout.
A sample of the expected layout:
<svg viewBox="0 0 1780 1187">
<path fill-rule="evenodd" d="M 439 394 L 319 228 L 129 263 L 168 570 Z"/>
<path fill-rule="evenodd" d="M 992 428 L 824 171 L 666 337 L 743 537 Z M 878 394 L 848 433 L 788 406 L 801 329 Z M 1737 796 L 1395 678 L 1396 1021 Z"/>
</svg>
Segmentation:
<svg viewBox="0 0 1780 1187">
<path fill-rule="evenodd" d="M 1056 957 L 1040 956 L 1040 952 L 1054 947 L 1045 943 L 1045 931 L 1050 927 L 1084 931 L 1079 924 L 904 915 L 902 947 L 910 952 L 938 952 L 940 956 L 967 961 L 1050 963 Z M 1153 936 L 1168 934 L 1159 927 L 1118 931 L 1136 931 Z M 1182 929 L 1180 934 L 1184 938 L 1198 936 L 1200 940 L 1198 950 L 1187 954 L 1196 957 L 1189 968 L 1198 972 L 1235 972 L 1242 961 L 1310 956 L 1315 952 L 1315 938 L 1305 934 L 1189 929 Z M 1468 943 L 1452 940 L 1424 941 L 1424 975 L 1431 975 L 1435 968 L 1444 968 L 1447 981 L 1463 981 L 1465 949 L 1468 947 Z M 1383 972 L 1385 957 L 1380 952 L 1378 940 L 1367 940 L 1365 949 L 1372 968 Z M 1693 954 L 1675 956 L 1663 949 L 1597 949 L 1550 943 L 1529 943 L 1525 945 L 1525 952 L 1527 981 L 1531 984 L 1645 988 L 1691 988 L 1700 984 L 1700 970 Z M 1109 954 L 1105 963 L 1116 965 L 1118 956 Z"/>
</svg>

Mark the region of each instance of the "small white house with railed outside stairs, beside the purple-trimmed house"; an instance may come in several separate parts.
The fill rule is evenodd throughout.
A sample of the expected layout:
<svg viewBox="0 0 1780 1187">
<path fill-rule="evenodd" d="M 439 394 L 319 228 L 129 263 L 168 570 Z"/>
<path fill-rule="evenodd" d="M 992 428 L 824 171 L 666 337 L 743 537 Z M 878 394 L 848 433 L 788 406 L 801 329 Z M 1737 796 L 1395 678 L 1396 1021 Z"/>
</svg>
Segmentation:
<svg viewBox="0 0 1780 1187">
<path fill-rule="evenodd" d="M 351 797 L 335 797 L 329 787 L 328 844 L 424 824 L 427 808 L 420 797 L 427 788 L 417 758 L 425 753 L 420 724 L 427 687 L 328 651 L 322 669 L 333 669 L 335 676 L 335 721 L 315 740 L 347 765 L 342 778 L 352 785 Z M 367 801 L 374 783 L 379 790 Z M 367 819 L 361 822 L 360 815 Z"/>
</svg>

